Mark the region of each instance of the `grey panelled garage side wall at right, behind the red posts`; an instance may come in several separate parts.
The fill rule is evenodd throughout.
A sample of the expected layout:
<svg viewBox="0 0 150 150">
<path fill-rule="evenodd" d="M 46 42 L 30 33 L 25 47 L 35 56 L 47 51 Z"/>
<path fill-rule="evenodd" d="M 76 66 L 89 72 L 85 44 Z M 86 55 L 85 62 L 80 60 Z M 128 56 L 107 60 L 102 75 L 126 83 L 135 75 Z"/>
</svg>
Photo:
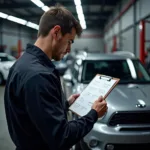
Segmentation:
<svg viewBox="0 0 150 150">
<path fill-rule="evenodd" d="M 116 11 L 119 13 L 132 0 L 122 0 L 115 9 L 113 17 L 116 16 Z M 150 1 L 137 0 L 112 26 L 109 24 L 112 19 L 109 19 L 104 33 L 104 42 L 107 45 L 107 52 L 111 52 L 113 44 L 113 36 L 117 36 L 117 49 L 133 52 L 139 57 L 140 51 L 140 28 L 139 23 L 142 19 L 150 20 Z M 119 15 L 119 14 L 118 14 Z M 146 39 L 150 40 L 150 24 L 146 24 Z M 145 43 L 145 50 L 150 47 L 150 43 Z"/>
</svg>

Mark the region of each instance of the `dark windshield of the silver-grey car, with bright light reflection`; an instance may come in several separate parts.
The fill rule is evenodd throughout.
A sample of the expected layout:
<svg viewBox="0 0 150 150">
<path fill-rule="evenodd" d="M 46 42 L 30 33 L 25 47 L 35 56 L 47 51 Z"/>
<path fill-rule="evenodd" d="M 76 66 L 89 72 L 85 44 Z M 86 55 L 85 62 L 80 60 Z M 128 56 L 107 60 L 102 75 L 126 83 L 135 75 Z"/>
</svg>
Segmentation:
<svg viewBox="0 0 150 150">
<path fill-rule="evenodd" d="M 88 84 L 96 74 L 120 78 L 119 83 L 150 83 L 150 76 L 139 60 L 84 61 L 82 83 Z"/>
</svg>

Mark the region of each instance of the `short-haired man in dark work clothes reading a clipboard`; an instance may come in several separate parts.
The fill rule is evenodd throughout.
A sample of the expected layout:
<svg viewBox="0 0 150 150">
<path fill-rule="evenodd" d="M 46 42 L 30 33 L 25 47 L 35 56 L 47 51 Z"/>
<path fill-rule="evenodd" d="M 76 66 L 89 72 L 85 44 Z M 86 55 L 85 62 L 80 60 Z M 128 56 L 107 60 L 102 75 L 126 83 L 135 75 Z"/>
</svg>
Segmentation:
<svg viewBox="0 0 150 150">
<path fill-rule="evenodd" d="M 58 71 L 51 59 L 70 52 L 81 26 L 64 7 L 50 8 L 39 24 L 38 38 L 10 69 L 5 110 L 10 136 L 17 150 L 68 150 L 83 138 L 107 111 L 99 98 L 91 111 L 67 121 L 67 108 L 79 96 L 64 100 Z"/>
</svg>

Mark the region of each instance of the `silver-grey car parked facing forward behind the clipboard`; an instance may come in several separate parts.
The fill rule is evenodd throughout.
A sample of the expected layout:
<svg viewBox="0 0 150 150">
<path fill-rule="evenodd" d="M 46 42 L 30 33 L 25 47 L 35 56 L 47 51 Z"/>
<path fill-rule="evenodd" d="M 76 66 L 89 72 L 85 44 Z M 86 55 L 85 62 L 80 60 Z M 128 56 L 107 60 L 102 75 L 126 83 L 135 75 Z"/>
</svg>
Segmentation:
<svg viewBox="0 0 150 150">
<path fill-rule="evenodd" d="M 97 73 L 121 80 L 106 98 L 107 113 L 83 138 L 80 148 L 150 149 L 150 76 L 144 66 L 133 56 L 79 55 L 63 76 L 66 97 L 81 93 Z"/>
</svg>

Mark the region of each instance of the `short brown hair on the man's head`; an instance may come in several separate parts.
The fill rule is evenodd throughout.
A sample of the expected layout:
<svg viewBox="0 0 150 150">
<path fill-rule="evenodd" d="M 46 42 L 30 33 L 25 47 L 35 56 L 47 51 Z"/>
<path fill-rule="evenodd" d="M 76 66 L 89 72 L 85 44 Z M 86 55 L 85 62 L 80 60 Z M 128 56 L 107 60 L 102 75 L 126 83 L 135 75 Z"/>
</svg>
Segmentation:
<svg viewBox="0 0 150 150">
<path fill-rule="evenodd" d="M 55 25 L 60 25 L 62 35 L 70 33 L 73 27 L 76 29 L 78 36 L 82 33 L 80 23 L 69 10 L 61 5 L 50 7 L 50 9 L 42 15 L 39 23 L 38 37 L 47 36 Z"/>
</svg>

